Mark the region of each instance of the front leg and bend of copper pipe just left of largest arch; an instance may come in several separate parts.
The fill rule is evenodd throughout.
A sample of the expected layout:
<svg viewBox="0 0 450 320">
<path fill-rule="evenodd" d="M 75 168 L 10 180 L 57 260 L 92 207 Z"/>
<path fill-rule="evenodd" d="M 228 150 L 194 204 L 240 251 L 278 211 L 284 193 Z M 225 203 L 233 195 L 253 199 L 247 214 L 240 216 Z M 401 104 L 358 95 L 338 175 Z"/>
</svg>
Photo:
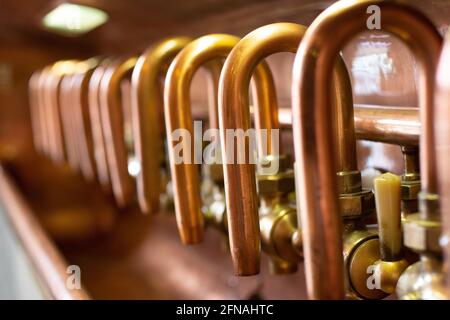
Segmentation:
<svg viewBox="0 0 450 320">
<path fill-rule="evenodd" d="M 237 275 L 253 275 L 260 267 L 260 230 L 255 165 L 247 161 L 228 161 L 226 131 L 251 127 L 248 88 L 259 62 L 275 52 L 297 48 L 305 28 L 291 23 L 264 26 L 245 36 L 228 55 L 219 82 L 220 139 L 224 163 L 228 232 L 234 270 Z M 257 79 L 257 78 L 255 78 Z M 259 97 L 258 97 L 259 98 Z M 271 101 L 255 106 L 255 126 L 278 129 L 278 104 L 275 92 Z M 269 105 L 269 108 L 265 107 Z M 263 121 L 261 116 L 267 116 Z M 268 136 L 270 134 L 268 133 Z M 262 140 L 262 139 L 260 139 Z M 262 143 L 262 142 L 261 142 Z M 272 145 L 272 141 L 268 143 Z M 268 154 L 272 153 L 268 147 Z M 233 148 L 233 152 L 236 148 Z M 231 150 L 230 150 L 231 151 Z M 246 152 L 248 152 L 246 150 Z M 251 152 L 251 151 L 250 151 Z M 235 157 L 236 155 L 233 155 Z M 234 160 L 234 159 L 233 159 Z"/>
</svg>

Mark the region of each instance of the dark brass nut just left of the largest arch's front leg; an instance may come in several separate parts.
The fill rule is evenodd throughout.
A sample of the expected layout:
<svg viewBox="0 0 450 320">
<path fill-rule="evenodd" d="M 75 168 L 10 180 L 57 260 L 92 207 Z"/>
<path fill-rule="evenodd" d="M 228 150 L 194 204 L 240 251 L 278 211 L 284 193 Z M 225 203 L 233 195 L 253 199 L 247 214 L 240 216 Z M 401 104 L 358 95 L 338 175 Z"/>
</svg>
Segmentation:
<svg viewBox="0 0 450 320">
<path fill-rule="evenodd" d="M 295 190 L 294 172 L 292 170 L 275 175 L 258 176 L 258 192 L 260 195 L 290 193 Z"/>
</svg>

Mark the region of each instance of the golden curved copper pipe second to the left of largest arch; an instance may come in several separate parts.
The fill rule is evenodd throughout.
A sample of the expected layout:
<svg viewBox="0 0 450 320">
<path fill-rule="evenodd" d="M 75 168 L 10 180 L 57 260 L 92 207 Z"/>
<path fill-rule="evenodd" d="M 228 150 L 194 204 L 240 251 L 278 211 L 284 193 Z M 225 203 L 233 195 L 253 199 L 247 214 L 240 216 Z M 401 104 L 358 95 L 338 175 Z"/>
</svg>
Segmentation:
<svg viewBox="0 0 450 320">
<path fill-rule="evenodd" d="M 174 59 L 167 72 L 164 87 L 164 106 L 170 168 L 174 185 L 175 212 L 181 240 L 185 244 L 199 243 L 203 239 L 204 221 L 201 212 L 200 183 L 198 168 L 194 160 L 194 143 L 184 145 L 190 148 L 190 159 L 176 163 L 178 156 L 175 149 L 177 141 L 173 141 L 174 130 L 187 130 L 193 136 L 192 111 L 190 105 L 190 85 L 195 72 L 203 65 L 211 66 L 213 61 L 225 59 L 239 38 L 227 34 L 211 34 L 192 41 Z M 213 66 L 213 68 L 216 68 Z M 214 71 L 217 74 L 217 70 Z M 257 71 L 258 99 L 263 99 L 261 105 L 268 110 L 275 101 L 273 80 L 267 66 L 261 66 Z M 214 81 L 210 82 L 214 87 Z M 214 88 L 212 89 L 214 90 Z M 214 103 L 213 106 L 217 108 Z M 211 112 L 210 112 L 211 114 Z M 270 115 L 273 114 L 272 112 Z M 214 122 L 215 113 L 212 113 Z M 217 137 L 218 138 L 218 137 Z M 192 140 L 192 139 L 191 139 Z M 195 140 L 195 139 L 194 139 Z M 183 138 L 183 142 L 186 141 Z"/>
</svg>

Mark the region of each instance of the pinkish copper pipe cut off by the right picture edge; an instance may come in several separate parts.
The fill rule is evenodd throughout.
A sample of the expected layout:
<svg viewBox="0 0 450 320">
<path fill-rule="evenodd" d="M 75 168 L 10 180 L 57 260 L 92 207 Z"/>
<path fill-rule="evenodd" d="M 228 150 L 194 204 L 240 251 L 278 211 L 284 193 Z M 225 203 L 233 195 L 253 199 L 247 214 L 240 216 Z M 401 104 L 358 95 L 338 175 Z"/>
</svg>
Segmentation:
<svg viewBox="0 0 450 320">
<path fill-rule="evenodd" d="M 450 296 L 450 33 L 447 32 L 437 70 L 436 90 L 436 160 L 442 216 L 442 236 L 446 289 Z"/>
</svg>

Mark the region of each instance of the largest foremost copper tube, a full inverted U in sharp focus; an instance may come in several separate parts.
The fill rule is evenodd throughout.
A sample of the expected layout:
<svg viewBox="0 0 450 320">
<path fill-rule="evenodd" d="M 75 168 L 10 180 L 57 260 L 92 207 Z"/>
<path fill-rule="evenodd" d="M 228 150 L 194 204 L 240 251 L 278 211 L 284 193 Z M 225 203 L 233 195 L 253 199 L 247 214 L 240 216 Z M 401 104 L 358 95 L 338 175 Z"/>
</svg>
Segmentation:
<svg viewBox="0 0 450 320">
<path fill-rule="evenodd" d="M 308 29 L 293 68 L 292 104 L 298 210 L 303 231 L 307 288 L 313 299 L 344 298 L 341 221 L 333 155 L 330 84 L 340 48 L 367 30 L 366 10 L 377 5 L 382 30 L 402 39 L 414 52 L 421 72 L 421 173 L 423 190 L 435 192 L 433 152 L 434 71 L 441 47 L 436 28 L 409 6 L 387 1 L 339 1 Z M 345 26 L 343 28 L 342 26 Z"/>
</svg>

